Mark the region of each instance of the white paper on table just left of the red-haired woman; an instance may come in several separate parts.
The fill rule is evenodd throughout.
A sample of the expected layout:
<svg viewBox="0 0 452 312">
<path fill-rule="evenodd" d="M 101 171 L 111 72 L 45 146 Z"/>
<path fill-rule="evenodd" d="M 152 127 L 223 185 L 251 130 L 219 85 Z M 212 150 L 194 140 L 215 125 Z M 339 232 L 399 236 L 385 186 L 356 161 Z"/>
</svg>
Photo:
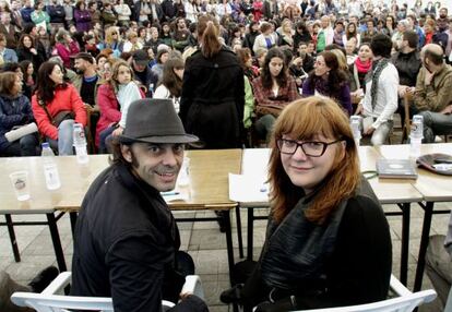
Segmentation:
<svg viewBox="0 0 452 312">
<path fill-rule="evenodd" d="M 266 203 L 269 184 L 254 176 L 229 173 L 229 200 L 241 203 Z"/>
</svg>

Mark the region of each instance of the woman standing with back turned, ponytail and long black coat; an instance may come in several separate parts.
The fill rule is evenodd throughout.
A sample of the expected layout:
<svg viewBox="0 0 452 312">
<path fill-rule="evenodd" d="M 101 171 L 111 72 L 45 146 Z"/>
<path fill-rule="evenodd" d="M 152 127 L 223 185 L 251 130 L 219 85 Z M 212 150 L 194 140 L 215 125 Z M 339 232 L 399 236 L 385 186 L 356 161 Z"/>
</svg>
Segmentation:
<svg viewBox="0 0 452 312">
<path fill-rule="evenodd" d="M 204 148 L 240 147 L 243 70 L 236 55 L 218 37 L 218 22 L 212 16 L 201 16 L 200 50 L 187 60 L 180 117 L 187 132 L 198 135 Z"/>
</svg>

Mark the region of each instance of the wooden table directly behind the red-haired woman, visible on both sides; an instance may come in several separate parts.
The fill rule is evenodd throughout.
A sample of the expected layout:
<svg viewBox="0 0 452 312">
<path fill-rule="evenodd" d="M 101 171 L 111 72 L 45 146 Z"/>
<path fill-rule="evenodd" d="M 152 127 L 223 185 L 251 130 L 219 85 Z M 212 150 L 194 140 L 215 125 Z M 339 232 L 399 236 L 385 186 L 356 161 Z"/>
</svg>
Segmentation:
<svg viewBox="0 0 452 312">
<path fill-rule="evenodd" d="M 269 148 L 243 149 L 241 173 L 255 177 L 257 181 L 265 180 L 266 164 L 269 163 Z M 360 146 L 359 158 L 361 171 L 376 170 L 376 161 L 382 156 L 372 146 Z M 411 203 L 420 202 L 423 195 L 412 185 L 409 181 L 369 180 L 373 192 L 381 204 L 397 204 L 401 213 L 386 213 L 386 215 L 402 215 L 402 256 L 401 256 L 401 281 L 406 285 L 408 271 L 408 248 L 409 248 L 409 208 Z M 254 217 L 253 209 L 257 207 L 267 207 L 267 201 L 255 201 L 248 199 L 239 203 L 241 207 L 248 208 L 248 240 L 247 257 L 252 259 L 253 245 L 253 220 L 266 217 Z"/>
</svg>

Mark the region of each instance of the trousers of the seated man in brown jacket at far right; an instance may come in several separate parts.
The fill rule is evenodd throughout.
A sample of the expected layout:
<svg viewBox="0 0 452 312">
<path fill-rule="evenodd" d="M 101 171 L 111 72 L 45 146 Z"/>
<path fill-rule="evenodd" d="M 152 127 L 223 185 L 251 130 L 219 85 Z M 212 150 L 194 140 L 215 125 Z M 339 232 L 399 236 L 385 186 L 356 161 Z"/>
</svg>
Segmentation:
<svg viewBox="0 0 452 312">
<path fill-rule="evenodd" d="M 452 115 L 420 111 L 424 117 L 424 143 L 433 143 L 435 135 L 452 133 Z"/>
</svg>

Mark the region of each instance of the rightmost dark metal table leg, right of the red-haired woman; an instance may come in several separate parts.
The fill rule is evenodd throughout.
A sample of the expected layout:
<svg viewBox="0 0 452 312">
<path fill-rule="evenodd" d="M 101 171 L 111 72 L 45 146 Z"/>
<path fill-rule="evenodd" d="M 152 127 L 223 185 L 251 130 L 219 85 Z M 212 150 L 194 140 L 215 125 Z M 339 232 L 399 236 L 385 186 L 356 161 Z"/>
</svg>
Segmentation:
<svg viewBox="0 0 452 312">
<path fill-rule="evenodd" d="M 413 291 L 419 291 L 423 286 L 424 267 L 426 265 L 426 253 L 431 226 L 431 216 L 433 214 L 433 202 L 427 202 L 424 208 L 423 235 L 420 237 L 419 256 L 417 259 L 416 277 Z"/>
</svg>

